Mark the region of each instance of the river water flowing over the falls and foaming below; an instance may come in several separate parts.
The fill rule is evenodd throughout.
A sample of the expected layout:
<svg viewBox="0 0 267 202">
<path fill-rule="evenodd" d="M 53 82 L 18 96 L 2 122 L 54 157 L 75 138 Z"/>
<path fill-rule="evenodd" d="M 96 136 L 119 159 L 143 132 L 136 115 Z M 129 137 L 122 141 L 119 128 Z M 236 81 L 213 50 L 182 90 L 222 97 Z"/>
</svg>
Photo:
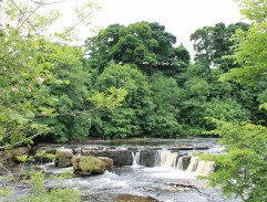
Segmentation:
<svg viewBox="0 0 267 202">
<path fill-rule="evenodd" d="M 183 168 L 181 158 L 188 156 L 194 150 L 170 151 L 170 148 L 174 147 L 192 147 L 198 148 L 197 151 L 201 152 L 220 153 L 224 147 L 218 146 L 217 140 L 214 138 L 197 138 L 72 142 L 68 147 L 134 148 L 133 164 L 113 167 L 100 176 L 74 176 L 71 179 L 60 181 L 49 178 L 45 187 L 48 189 L 72 188 L 80 190 L 82 200 L 89 202 L 116 202 L 119 195 L 152 196 L 161 202 L 240 202 L 238 199 L 224 198 L 219 188 L 208 187 L 207 181 L 196 178 L 196 172 L 181 169 Z M 208 147 L 209 149 L 199 150 L 199 147 Z M 153 167 L 142 166 L 140 151 L 147 149 L 154 150 L 156 153 L 156 161 Z M 54 174 L 60 174 L 68 170 L 72 171 L 72 168 L 55 168 L 53 163 L 42 164 L 40 169 Z M 132 200 L 125 199 L 124 201 L 131 202 Z"/>
</svg>

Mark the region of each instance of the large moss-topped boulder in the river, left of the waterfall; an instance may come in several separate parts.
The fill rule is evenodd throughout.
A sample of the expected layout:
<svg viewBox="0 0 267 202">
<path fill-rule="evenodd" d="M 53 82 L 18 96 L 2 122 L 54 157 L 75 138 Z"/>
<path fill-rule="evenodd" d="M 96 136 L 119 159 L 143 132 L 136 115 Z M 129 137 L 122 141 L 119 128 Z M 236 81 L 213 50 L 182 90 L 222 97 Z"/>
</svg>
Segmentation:
<svg viewBox="0 0 267 202">
<path fill-rule="evenodd" d="M 113 164 L 112 159 L 93 156 L 73 156 L 72 162 L 74 173 L 80 176 L 102 174 Z"/>
</svg>

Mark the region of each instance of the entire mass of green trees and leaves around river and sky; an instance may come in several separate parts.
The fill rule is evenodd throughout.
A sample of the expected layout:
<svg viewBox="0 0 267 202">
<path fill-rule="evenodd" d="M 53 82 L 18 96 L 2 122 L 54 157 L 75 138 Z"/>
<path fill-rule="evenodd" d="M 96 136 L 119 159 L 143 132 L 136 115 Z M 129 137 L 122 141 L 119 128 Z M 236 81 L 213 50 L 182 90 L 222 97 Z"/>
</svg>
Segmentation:
<svg viewBox="0 0 267 202">
<path fill-rule="evenodd" d="M 217 135 L 226 145 L 212 184 L 244 201 L 267 192 L 267 7 L 236 0 L 251 24 L 220 22 L 191 35 L 195 63 L 157 22 L 112 24 L 82 47 L 69 44 L 78 22 L 48 33 L 59 11 L 44 1 L 7 0 L 0 19 L 0 148 L 40 134 L 79 138 L 175 138 Z M 1 2 L 2 6 L 2 2 Z M 233 35 L 234 34 L 234 35 Z M 204 120 L 204 117 L 209 121 Z"/>
</svg>

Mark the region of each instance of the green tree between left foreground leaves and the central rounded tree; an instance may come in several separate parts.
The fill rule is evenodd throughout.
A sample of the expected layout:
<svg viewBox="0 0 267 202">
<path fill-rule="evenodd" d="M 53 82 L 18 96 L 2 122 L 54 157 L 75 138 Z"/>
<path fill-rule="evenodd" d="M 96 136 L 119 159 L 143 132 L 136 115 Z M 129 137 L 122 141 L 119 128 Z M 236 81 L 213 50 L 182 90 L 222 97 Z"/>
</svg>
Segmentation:
<svg viewBox="0 0 267 202">
<path fill-rule="evenodd" d="M 91 116 L 82 111 L 93 108 L 88 100 L 92 95 L 92 85 L 91 75 L 82 66 L 82 56 L 83 52 L 80 47 L 58 44 L 53 44 L 51 52 L 43 55 L 43 60 L 53 63 L 51 72 L 63 81 L 63 84 L 49 85 L 42 91 L 43 95 L 57 100 L 47 107 L 54 108 L 58 115 L 38 117 L 39 123 L 52 128 L 49 135 L 57 141 L 89 135 Z M 42 106 L 45 106 L 45 103 Z"/>
</svg>

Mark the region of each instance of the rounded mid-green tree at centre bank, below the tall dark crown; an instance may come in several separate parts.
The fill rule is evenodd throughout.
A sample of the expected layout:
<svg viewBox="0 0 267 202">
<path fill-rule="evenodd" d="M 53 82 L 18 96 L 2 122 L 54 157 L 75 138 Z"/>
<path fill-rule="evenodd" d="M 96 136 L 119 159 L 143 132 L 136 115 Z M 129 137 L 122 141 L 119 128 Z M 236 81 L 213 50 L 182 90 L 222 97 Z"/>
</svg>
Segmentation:
<svg viewBox="0 0 267 202">
<path fill-rule="evenodd" d="M 100 134 L 106 138 L 125 138 L 138 135 L 153 105 L 146 77 L 130 65 L 111 64 L 97 77 L 96 88 L 105 91 L 111 86 L 119 89 L 123 87 L 127 94 L 121 107 L 101 116 L 101 124 L 97 121 L 97 126 L 101 128 L 96 127 L 96 130 L 102 131 Z"/>
</svg>

